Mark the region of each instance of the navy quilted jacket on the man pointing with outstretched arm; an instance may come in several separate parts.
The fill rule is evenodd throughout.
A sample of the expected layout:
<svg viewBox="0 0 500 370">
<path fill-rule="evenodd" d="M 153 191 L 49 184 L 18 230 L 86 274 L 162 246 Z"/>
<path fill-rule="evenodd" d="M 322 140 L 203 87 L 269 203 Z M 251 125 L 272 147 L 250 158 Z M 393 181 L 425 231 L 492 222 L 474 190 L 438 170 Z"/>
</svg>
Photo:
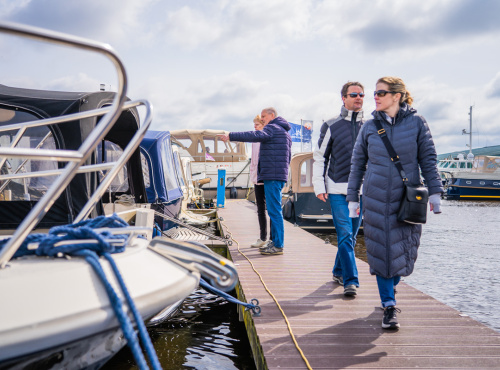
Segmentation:
<svg viewBox="0 0 500 370">
<path fill-rule="evenodd" d="M 276 117 L 261 131 L 231 132 L 231 141 L 260 142 L 258 182 L 288 180 L 288 166 L 292 152 L 290 124 L 283 117 Z"/>
</svg>

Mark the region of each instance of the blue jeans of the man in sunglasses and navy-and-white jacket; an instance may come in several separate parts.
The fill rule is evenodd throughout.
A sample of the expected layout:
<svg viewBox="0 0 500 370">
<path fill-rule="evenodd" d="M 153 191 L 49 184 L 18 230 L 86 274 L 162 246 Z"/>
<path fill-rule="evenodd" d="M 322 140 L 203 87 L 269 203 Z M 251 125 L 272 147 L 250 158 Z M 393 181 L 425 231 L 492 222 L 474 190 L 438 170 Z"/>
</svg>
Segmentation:
<svg viewBox="0 0 500 370">
<path fill-rule="evenodd" d="M 358 268 L 354 246 L 361 223 L 362 203 L 359 203 L 359 217 L 350 218 L 348 202 L 344 194 L 328 194 L 332 208 L 333 225 L 337 233 L 337 256 L 333 266 L 333 275 L 342 276 L 344 286 L 354 284 L 359 287 Z"/>
</svg>

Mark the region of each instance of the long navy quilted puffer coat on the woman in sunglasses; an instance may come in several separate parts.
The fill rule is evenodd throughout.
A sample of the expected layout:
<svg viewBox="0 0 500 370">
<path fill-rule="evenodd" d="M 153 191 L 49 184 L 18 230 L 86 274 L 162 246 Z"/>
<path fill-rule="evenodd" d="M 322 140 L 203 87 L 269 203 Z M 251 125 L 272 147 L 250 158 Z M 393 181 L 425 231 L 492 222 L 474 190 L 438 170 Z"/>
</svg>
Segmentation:
<svg viewBox="0 0 500 370">
<path fill-rule="evenodd" d="M 397 220 L 403 181 L 377 133 L 374 120 L 380 121 L 386 130 L 409 182 L 420 183 L 421 171 L 430 195 L 443 192 L 429 127 L 416 113 L 404 104 L 392 124 L 383 112 L 373 112 L 374 119 L 361 128 L 351 159 L 347 200 L 359 201 L 363 183 L 363 231 L 370 272 L 385 278 L 408 276 L 413 272 L 422 225 Z"/>
</svg>

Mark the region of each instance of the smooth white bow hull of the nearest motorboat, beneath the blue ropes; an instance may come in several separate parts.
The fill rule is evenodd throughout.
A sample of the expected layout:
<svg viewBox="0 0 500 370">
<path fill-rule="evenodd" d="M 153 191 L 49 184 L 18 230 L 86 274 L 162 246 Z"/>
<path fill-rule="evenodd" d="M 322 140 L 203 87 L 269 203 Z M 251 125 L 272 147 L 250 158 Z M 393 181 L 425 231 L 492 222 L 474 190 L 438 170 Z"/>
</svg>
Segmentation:
<svg viewBox="0 0 500 370">
<path fill-rule="evenodd" d="M 199 283 L 198 273 L 160 256 L 143 239 L 113 258 L 144 320 L 187 297 Z M 101 264 L 123 297 L 109 264 L 103 259 Z M 0 364 L 119 330 L 101 281 L 80 258 L 11 260 L 9 267 L 0 270 L 0 291 L 0 317 L 9 318 L 0 322 Z"/>
</svg>

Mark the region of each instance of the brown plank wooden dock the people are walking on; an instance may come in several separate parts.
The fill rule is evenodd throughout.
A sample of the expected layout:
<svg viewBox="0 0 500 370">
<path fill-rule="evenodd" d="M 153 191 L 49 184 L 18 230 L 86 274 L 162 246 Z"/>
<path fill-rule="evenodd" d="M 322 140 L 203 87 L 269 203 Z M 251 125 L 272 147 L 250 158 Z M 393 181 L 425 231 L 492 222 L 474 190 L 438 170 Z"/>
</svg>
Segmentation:
<svg viewBox="0 0 500 370">
<path fill-rule="evenodd" d="M 253 203 L 228 200 L 219 216 L 225 235 L 239 243 L 229 247 L 239 298 L 257 298 L 262 309 L 259 317 L 242 315 L 258 369 L 500 369 L 499 332 L 404 282 L 396 296 L 401 329 L 384 330 L 367 263 L 357 260 L 361 286 L 348 298 L 332 281 L 334 246 L 285 222 L 284 254 L 264 256 L 250 248 L 259 236 Z"/>
</svg>

